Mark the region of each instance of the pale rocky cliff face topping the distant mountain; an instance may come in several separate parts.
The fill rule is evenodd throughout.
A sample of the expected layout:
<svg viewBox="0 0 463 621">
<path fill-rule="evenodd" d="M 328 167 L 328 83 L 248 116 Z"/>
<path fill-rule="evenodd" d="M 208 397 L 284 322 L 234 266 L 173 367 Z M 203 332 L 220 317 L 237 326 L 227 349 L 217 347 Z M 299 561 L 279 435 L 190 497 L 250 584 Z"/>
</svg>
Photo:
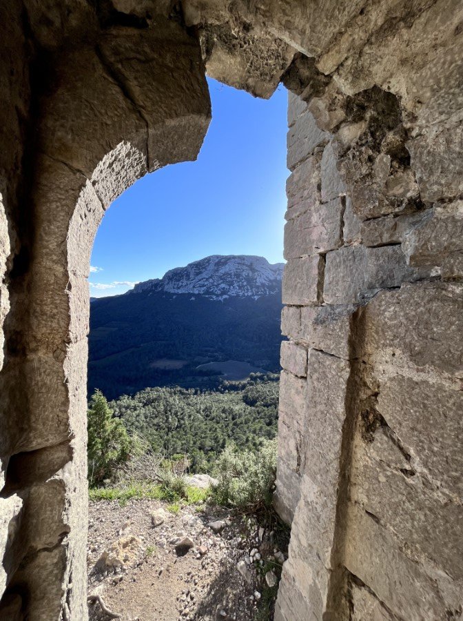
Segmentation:
<svg viewBox="0 0 463 621">
<path fill-rule="evenodd" d="M 169 270 L 162 279 L 135 285 L 133 293 L 152 290 L 190 293 L 214 299 L 253 297 L 279 293 L 284 264 L 269 264 L 264 257 L 212 255 L 183 268 Z"/>
</svg>

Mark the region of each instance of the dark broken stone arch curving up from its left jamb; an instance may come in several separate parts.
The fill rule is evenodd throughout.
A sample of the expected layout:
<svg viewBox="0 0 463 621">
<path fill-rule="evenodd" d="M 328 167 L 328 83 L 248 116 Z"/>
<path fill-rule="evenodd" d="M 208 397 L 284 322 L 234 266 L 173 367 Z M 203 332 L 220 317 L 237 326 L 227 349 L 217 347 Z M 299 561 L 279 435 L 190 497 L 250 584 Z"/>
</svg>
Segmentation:
<svg viewBox="0 0 463 621">
<path fill-rule="evenodd" d="M 34 227 L 27 274 L 12 296 L 23 328 L 18 335 L 5 324 L 0 502 L 8 503 L 9 535 L 1 615 L 87 615 L 83 414 L 92 242 L 104 210 L 136 179 L 196 159 L 210 120 L 196 41 L 176 23 L 161 26 L 143 37 L 124 32 L 128 46 L 117 28 L 108 30 L 96 48 L 68 50 L 52 71 L 42 68 Z"/>
</svg>

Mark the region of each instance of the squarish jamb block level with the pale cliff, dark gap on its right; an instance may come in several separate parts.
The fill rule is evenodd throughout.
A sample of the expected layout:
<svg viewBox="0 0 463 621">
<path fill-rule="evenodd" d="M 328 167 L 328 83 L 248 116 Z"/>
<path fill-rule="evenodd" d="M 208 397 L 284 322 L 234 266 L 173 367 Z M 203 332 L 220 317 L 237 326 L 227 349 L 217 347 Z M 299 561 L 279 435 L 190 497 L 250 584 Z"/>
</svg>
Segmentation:
<svg viewBox="0 0 463 621">
<path fill-rule="evenodd" d="M 325 259 L 320 255 L 289 259 L 283 273 L 283 304 L 294 306 L 320 304 L 324 270 Z"/>
</svg>

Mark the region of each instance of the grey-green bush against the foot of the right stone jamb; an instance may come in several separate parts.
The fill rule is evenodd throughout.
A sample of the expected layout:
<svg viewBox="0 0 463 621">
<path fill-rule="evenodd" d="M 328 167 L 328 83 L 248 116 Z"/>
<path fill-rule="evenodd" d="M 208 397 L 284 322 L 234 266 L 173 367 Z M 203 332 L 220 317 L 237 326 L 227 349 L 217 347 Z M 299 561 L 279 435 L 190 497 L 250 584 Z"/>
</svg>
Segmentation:
<svg viewBox="0 0 463 621">
<path fill-rule="evenodd" d="M 264 440 L 257 453 L 239 452 L 229 444 L 216 466 L 216 504 L 258 511 L 271 505 L 276 477 L 276 440 Z"/>
</svg>

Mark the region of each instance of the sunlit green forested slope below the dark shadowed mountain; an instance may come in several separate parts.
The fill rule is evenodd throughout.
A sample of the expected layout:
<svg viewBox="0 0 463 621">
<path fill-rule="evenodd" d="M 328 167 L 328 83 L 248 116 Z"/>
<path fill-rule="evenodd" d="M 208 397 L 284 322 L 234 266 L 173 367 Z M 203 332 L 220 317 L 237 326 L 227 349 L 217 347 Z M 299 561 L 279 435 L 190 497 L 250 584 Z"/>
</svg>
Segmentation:
<svg viewBox="0 0 463 621">
<path fill-rule="evenodd" d="M 229 442 L 255 451 L 276 435 L 278 375 L 253 374 L 215 391 L 145 388 L 110 403 L 127 429 L 171 459 L 188 455 L 190 469 L 209 471 Z"/>
</svg>

